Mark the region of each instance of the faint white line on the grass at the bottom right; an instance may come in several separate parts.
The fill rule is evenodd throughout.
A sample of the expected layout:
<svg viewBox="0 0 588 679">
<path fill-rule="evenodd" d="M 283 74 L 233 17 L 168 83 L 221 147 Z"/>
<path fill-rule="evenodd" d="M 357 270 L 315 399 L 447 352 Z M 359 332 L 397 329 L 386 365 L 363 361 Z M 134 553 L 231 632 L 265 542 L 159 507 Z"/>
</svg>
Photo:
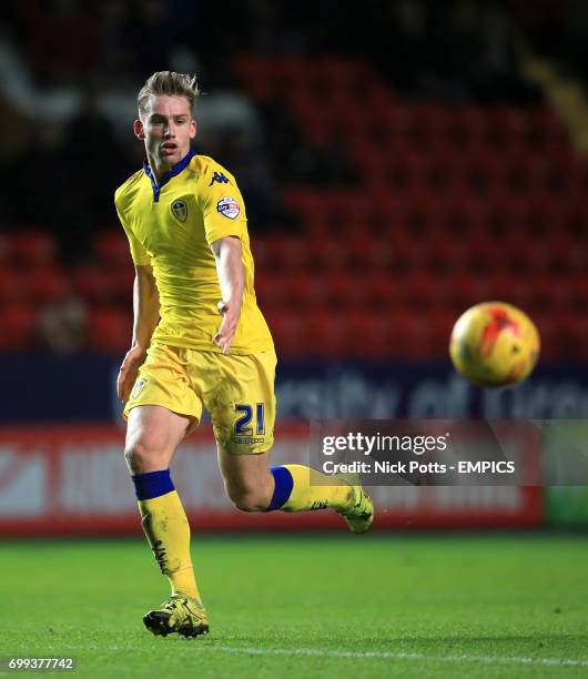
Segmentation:
<svg viewBox="0 0 588 679">
<path fill-rule="evenodd" d="M 428 660 L 433 662 L 481 662 L 484 665 L 540 665 L 547 667 L 588 667 L 588 660 L 569 658 L 525 658 L 504 656 L 426 656 L 425 653 L 403 653 L 392 651 L 337 651 L 320 648 L 246 648 L 237 646 L 212 646 L 203 643 L 201 649 L 222 653 L 243 653 L 247 656 L 318 656 L 327 658 L 388 658 L 392 660 Z"/>
</svg>

